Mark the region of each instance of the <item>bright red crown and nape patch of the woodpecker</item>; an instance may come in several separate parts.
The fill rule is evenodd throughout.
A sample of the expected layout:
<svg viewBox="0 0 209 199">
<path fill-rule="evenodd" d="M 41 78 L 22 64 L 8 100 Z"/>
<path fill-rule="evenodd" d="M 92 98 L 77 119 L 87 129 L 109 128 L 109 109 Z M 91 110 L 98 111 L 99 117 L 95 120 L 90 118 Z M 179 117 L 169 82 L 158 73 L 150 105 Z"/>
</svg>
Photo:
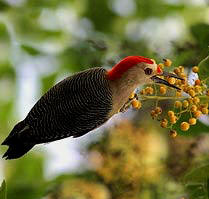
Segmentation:
<svg viewBox="0 0 209 199">
<path fill-rule="evenodd" d="M 120 78 L 128 69 L 133 67 L 134 65 L 145 62 L 148 64 L 153 64 L 154 62 L 146 57 L 142 56 L 128 56 L 122 59 L 119 63 L 117 63 L 110 71 L 108 71 L 107 78 L 109 80 L 115 80 Z"/>
</svg>

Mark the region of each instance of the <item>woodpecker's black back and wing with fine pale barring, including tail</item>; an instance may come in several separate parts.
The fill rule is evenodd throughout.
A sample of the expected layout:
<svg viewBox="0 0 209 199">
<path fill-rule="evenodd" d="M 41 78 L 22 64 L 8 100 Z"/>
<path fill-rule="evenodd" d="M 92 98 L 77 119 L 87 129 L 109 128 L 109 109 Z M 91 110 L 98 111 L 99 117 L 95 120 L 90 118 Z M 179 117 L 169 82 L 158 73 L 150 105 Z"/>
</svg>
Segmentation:
<svg viewBox="0 0 209 199">
<path fill-rule="evenodd" d="M 10 147 L 4 157 L 20 157 L 35 144 L 82 136 L 105 123 L 111 108 L 105 69 L 92 68 L 70 76 L 42 96 L 14 127 L 2 143 Z"/>
</svg>

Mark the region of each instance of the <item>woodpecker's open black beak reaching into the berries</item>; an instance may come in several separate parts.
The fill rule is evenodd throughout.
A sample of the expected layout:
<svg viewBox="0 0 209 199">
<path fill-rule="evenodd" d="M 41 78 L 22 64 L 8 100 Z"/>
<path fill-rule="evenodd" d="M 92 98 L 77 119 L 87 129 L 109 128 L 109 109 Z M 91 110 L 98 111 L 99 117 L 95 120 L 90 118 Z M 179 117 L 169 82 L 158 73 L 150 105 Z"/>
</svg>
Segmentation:
<svg viewBox="0 0 209 199">
<path fill-rule="evenodd" d="M 177 90 L 181 90 L 180 88 L 178 88 L 177 86 L 174 86 L 173 84 L 170 84 L 169 82 L 167 82 L 166 80 L 164 79 L 161 79 L 159 78 L 158 76 L 163 76 L 163 77 L 174 77 L 176 79 L 180 79 L 180 80 L 183 80 L 183 78 L 173 74 L 173 73 L 168 73 L 168 72 L 165 72 L 163 71 L 161 74 L 159 75 L 154 75 L 151 77 L 152 81 L 154 81 L 155 83 L 159 83 L 159 84 L 164 84 L 166 86 L 169 86 L 171 88 L 175 88 Z"/>
</svg>

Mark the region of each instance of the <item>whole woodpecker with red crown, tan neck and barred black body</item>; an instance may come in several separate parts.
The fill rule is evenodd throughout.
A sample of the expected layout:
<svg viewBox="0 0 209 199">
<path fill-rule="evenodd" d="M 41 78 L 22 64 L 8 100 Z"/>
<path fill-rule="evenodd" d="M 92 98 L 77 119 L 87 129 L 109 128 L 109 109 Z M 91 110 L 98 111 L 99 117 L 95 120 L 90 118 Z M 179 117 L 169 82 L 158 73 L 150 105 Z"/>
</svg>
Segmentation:
<svg viewBox="0 0 209 199">
<path fill-rule="evenodd" d="M 181 79 L 142 56 L 125 57 L 109 71 L 95 67 L 67 77 L 14 126 L 2 143 L 9 146 L 3 158 L 16 159 L 36 144 L 80 137 L 98 128 L 121 110 L 139 85 L 154 81 L 179 89 L 159 76 Z"/>
</svg>

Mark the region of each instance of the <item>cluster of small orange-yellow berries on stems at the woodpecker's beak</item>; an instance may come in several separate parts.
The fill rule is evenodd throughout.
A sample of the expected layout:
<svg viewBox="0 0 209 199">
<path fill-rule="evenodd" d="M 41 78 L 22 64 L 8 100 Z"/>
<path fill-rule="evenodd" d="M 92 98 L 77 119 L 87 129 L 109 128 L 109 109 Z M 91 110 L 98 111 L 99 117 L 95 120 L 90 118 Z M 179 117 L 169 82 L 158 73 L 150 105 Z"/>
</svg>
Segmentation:
<svg viewBox="0 0 209 199">
<path fill-rule="evenodd" d="M 172 62 L 169 59 L 164 59 L 164 63 L 158 64 L 161 69 L 164 67 L 170 67 Z M 198 66 L 192 68 L 192 72 L 198 74 Z M 179 128 L 182 131 L 188 131 L 190 126 L 196 125 L 197 119 L 201 115 L 208 115 L 208 102 L 209 102 L 209 89 L 204 80 L 196 79 L 193 84 L 188 83 L 187 75 L 183 66 L 174 68 L 173 74 L 181 77 L 175 79 L 173 77 L 164 77 L 164 79 L 171 85 L 175 85 L 181 90 L 175 90 L 173 88 L 164 85 L 153 85 L 146 87 L 140 91 L 139 94 L 132 94 L 130 96 L 131 104 L 133 108 L 141 108 L 141 102 L 147 99 L 156 100 L 156 106 L 151 111 L 151 117 L 160 121 L 162 128 L 168 128 L 170 130 L 171 137 L 177 136 L 177 131 L 174 130 L 174 125 L 181 118 L 182 114 L 188 114 L 188 121 L 182 121 Z M 163 113 L 162 108 L 158 106 L 160 100 L 174 100 L 173 110 L 169 110 L 167 114 Z"/>
</svg>

